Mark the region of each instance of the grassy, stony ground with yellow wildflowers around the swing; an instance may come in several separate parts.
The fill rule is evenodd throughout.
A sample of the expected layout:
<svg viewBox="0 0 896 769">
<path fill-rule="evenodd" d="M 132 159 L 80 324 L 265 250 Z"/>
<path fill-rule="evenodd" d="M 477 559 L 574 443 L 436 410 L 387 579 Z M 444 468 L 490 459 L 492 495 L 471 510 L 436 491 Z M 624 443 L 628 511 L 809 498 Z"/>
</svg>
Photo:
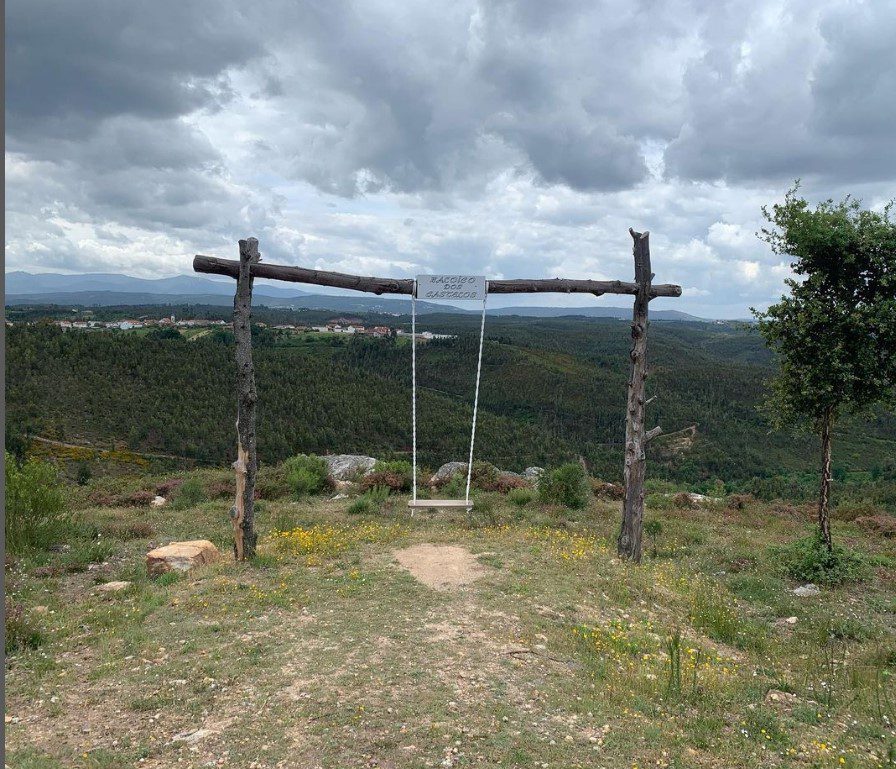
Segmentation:
<svg viewBox="0 0 896 769">
<path fill-rule="evenodd" d="M 39 634 L 7 658 L 10 766 L 892 765 L 896 543 L 850 523 L 835 538 L 875 578 L 799 599 L 775 548 L 804 522 L 762 503 L 649 510 L 662 542 L 638 567 L 615 557 L 617 502 L 266 499 L 259 556 L 234 564 L 230 500 L 206 496 L 87 505 L 98 538 L 7 568 Z M 199 537 L 225 558 L 146 577 L 151 546 Z M 424 542 L 484 576 L 426 588 L 392 557 Z M 95 590 L 112 579 L 133 584 Z"/>
</svg>

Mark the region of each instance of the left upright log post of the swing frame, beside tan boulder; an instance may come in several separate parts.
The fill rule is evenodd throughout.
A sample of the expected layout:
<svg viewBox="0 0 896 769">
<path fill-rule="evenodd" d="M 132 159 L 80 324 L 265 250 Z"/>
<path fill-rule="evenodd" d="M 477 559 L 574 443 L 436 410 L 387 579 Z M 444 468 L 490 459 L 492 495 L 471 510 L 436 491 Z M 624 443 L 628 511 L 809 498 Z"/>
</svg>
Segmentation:
<svg viewBox="0 0 896 769">
<path fill-rule="evenodd" d="M 233 521 L 233 555 L 244 561 L 255 555 L 255 369 L 252 365 L 252 274 L 250 267 L 261 260 L 258 240 L 240 241 L 240 274 L 233 298 L 233 334 L 236 337 L 237 459 L 236 503 L 230 511 Z"/>
</svg>

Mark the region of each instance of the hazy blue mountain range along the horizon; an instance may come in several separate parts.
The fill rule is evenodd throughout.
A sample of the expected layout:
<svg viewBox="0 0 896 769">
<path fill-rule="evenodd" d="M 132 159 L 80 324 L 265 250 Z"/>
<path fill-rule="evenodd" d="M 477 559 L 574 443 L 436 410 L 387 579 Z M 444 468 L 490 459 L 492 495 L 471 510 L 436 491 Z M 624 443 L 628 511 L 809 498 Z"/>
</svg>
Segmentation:
<svg viewBox="0 0 896 769">
<path fill-rule="evenodd" d="M 194 275 L 171 278 L 133 278 L 113 273 L 61 275 L 56 273 L 10 272 L 6 275 L 7 305 L 81 305 L 110 307 L 121 305 L 194 304 L 228 306 L 233 302 L 233 281 L 213 280 Z M 259 280 L 253 302 L 259 306 L 282 309 L 333 310 L 405 315 L 410 312 L 408 299 L 366 295 L 311 294 L 297 288 L 284 288 Z M 418 302 L 417 312 L 469 314 L 478 310 Z M 631 318 L 630 307 L 500 307 L 490 309 L 491 316 L 558 318 Z M 656 320 L 701 320 L 678 310 L 653 310 Z"/>
</svg>

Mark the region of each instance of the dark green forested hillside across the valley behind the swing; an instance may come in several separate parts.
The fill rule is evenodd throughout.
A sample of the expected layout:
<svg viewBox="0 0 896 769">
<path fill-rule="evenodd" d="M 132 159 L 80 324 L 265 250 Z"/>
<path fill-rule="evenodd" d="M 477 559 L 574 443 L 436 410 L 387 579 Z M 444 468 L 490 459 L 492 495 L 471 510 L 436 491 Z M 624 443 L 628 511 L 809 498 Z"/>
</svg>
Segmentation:
<svg viewBox="0 0 896 769">
<path fill-rule="evenodd" d="M 394 321 L 394 319 L 393 319 Z M 455 334 L 418 356 L 420 451 L 430 465 L 462 459 L 469 440 L 478 319 L 430 316 Z M 595 474 L 621 475 L 628 325 L 576 318 L 495 318 L 487 325 L 477 455 L 508 469 L 583 456 Z M 780 488 L 816 465 L 815 442 L 770 430 L 757 410 L 773 362 L 746 326 L 654 323 L 650 473 L 692 485 L 751 479 Z M 229 332 L 7 329 L 7 441 L 26 433 L 119 442 L 220 463 L 234 452 L 234 362 Z M 409 452 L 410 346 L 402 339 L 259 330 L 259 453 Z M 841 477 L 892 472 L 896 418 L 844 422 Z M 889 464 L 888 464 L 889 463 Z M 811 477 L 811 476 L 808 476 Z M 753 482 L 754 486 L 757 482 Z"/>
</svg>

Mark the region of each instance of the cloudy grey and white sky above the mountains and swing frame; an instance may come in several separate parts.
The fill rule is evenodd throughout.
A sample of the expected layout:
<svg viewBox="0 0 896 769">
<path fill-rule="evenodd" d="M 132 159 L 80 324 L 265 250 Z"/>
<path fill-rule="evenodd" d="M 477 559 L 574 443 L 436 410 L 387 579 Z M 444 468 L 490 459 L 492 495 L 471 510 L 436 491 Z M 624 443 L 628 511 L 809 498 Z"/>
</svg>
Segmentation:
<svg viewBox="0 0 896 769">
<path fill-rule="evenodd" d="M 684 287 L 655 307 L 744 317 L 789 274 L 755 232 L 794 178 L 896 195 L 894 40 L 896 0 L 10 0 L 6 269 L 161 277 L 256 235 L 631 279 L 631 226 Z"/>
</svg>

